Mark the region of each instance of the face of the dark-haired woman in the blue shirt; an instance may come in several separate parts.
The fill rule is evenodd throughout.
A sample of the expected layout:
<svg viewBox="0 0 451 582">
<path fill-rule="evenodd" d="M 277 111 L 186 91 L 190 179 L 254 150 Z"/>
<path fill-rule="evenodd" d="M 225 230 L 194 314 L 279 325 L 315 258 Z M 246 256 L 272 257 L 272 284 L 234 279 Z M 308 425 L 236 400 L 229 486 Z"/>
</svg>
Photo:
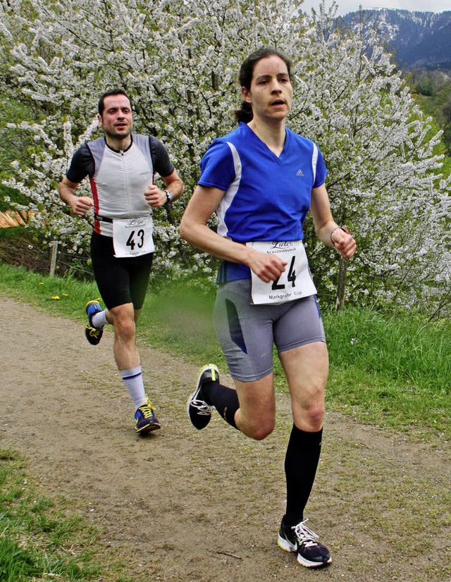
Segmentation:
<svg viewBox="0 0 451 582">
<path fill-rule="evenodd" d="M 243 99 L 252 105 L 254 118 L 284 120 L 290 112 L 293 87 L 288 68 L 279 56 L 255 63 L 251 87 L 242 87 L 241 91 Z"/>
</svg>

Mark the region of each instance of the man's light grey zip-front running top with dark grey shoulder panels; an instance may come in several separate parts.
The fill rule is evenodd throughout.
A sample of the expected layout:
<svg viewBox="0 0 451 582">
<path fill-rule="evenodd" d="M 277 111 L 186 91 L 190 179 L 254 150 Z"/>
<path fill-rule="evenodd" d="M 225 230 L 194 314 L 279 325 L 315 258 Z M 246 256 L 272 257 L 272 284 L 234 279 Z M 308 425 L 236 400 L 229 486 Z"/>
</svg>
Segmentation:
<svg viewBox="0 0 451 582">
<path fill-rule="evenodd" d="M 94 213 L 108 219 L 152 214 L 144 198 L 144 190 L 152 185 L 154 177 L 149 137 L 134 134 L 126 151 L 110 149 L 103 137 L 87 146 L 95 162 L 94 174 L 89 178 Z M 112 237 L 113 224 L 96 218 L 94 232 Z"/>
</svg>

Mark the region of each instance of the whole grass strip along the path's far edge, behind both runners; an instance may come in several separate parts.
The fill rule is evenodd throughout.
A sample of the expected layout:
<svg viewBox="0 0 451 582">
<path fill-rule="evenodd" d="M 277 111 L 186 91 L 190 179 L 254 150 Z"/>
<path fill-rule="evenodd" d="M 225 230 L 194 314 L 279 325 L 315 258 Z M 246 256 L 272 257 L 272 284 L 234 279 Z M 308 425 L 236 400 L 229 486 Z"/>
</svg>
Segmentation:
<svg viewBox="0 0 451 582">
<path fill-rule="evenodd" d="M 79 321 L 85 321 L 85 302 L 99 296 L 95 283 L 50 279 L 1 263 L 0 292 Z M 209 281 L 153 279 L 140 318 L 141 344 L 226 369 L 211 323 L 214 293 Z M 325 312 L 323 321 L 330 354 L 329 410 L 416 438 L 450 438 L 449 321 L 428 323 L 410 314 L 352 308 Z M 275 363 L 276 386 L 286 390 L 277 357 Z"/>
</svg>

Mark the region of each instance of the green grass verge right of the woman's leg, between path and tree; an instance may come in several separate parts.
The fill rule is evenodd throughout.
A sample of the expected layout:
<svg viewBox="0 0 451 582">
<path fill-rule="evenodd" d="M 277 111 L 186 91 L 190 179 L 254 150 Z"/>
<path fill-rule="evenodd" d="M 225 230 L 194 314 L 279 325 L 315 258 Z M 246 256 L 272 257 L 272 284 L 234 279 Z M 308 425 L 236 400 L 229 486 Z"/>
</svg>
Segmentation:
<svg viewBox="0 0 451 582">
<path fill-rule="evenodd" d="M 326 316 L 330 409 L 424 438 L 450 438 L 451 325 L 349 309 Z"/>
</svg>

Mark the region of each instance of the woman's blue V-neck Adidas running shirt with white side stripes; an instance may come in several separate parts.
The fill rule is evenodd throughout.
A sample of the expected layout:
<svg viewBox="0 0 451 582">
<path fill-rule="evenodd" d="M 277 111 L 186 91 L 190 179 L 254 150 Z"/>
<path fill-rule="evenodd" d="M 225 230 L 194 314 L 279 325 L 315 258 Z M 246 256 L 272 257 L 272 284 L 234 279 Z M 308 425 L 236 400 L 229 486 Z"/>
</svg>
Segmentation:
<svg viewBox="0 0 451 582">
<path fill-rule="evenodd" d="M 285 135 L 279 157 L 245 123 L 207 149 L 199 185 L 225 192 L 216 209 L 219 235 L 242 243 L 304 238 L 311 189 L 327 170 L 314 142 L 289 129 Z M 247 266 L 223 261 L 218 282 L 248 277 Z"/>
</svg>

